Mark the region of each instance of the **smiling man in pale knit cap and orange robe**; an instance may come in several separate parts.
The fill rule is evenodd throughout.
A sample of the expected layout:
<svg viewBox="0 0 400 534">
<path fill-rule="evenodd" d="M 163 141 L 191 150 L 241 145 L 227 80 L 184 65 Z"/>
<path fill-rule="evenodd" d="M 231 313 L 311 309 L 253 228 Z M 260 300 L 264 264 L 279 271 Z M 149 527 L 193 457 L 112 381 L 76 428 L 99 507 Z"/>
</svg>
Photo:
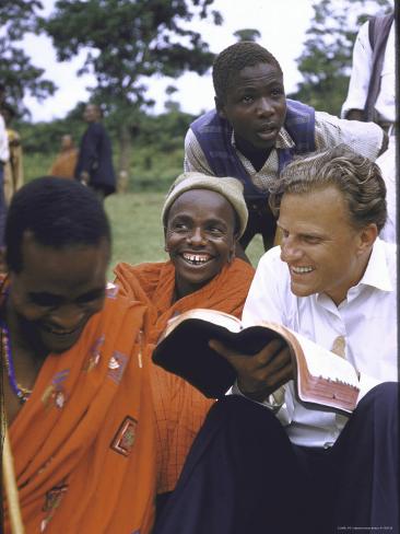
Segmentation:
<svg viewBox="0 0 400 534">
<path fill-rule="evenodd" d="M 149 307 L 149 359 L 168 320 L 177 314 L 208 307 L 239 317 L 254 277 L 254 268 L 235 258 L 236 240 L 247 223 L 243 187 L 237 179 L 183 174 L 167 195 L 162 219 L 170 259 L 137 266 L 119 264 L 115 269 L 121 291 Z M 214 400 L 157 365 L 153 364 L 151 374 L 161 509 Z"/>
</svg>

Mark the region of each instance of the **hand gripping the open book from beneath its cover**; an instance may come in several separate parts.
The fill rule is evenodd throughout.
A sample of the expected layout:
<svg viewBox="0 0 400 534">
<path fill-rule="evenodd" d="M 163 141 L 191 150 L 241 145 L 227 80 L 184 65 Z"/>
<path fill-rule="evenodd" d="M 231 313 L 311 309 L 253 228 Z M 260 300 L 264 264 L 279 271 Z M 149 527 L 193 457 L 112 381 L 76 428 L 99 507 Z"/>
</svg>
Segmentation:
<svg viewBox="0 0 400 534">
<path fill-rule="evenodd" d="M 295 376 L 291 351 L 283 339 L 272 339 L 256 355 L 239 353 L 216 339 L 211 339 L 209 346 L 231 363 L 240 392 L 254 400 L 264 400 Z"/>
</svg>

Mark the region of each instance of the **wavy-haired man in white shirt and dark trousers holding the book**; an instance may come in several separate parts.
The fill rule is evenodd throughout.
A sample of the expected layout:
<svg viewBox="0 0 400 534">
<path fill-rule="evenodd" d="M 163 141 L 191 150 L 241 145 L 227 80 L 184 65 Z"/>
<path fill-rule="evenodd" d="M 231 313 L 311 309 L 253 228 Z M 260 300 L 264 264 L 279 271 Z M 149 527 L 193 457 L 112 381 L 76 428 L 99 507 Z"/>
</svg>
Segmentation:
<svg viewBox="0 0 400 534">
<path fill-rule="evenodd" d="M 255 502 L 248 523 L 239 515 L 242 531 L 209 532 L 398 533 L 396 248 L 378 239 L 385 183 L 375 163 L 339 146 L 291 163 L 280 184 L 271 200 L 282 245 L 261 258 L 243 320 L 282 323 L 330 350 L 344 345 L 363 398 L 349 418 L 306 408 L 294 395 L 287 350 L 271 343 L 251 358 L 212 341 L 238 371 L 242 394 L 267 408 L 239 395 L 216 403 L 174 504 L 212 491 L 223 496 L 225 515 L 230 507 L 239 514 L 250 504 L 236 484 Z"/>
</svg>

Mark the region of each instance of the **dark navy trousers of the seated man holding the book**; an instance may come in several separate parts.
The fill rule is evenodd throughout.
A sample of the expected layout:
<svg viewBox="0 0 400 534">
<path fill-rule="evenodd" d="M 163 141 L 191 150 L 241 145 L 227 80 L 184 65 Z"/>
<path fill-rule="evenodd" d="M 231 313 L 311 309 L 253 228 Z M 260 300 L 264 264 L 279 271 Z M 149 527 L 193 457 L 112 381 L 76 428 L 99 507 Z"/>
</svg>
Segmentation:
<svg viewBox="0 0 400 534">
<path fill-rule="evenodd" d="M 293 445 L 262 406 L 219 400 L 153 534 L 399 534 L 398 407 L 398 384 L 380 384 L 323 450 Z"/>
</svg>

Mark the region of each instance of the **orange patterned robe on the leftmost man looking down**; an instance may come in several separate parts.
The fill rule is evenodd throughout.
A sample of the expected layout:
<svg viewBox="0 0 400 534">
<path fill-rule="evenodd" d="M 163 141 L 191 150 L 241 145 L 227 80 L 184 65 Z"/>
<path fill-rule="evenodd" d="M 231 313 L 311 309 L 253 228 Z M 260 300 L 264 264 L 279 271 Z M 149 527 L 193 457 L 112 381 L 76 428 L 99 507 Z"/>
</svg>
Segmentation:
<svg viewBox="0 0 400 534">
<path fill-rule="evenodd" d="M 156 446 L 144 313 L 108 290 L 79 341 L 45 360 L 10 426 L 27 534 L 151 532 Z"/>
</svg>

